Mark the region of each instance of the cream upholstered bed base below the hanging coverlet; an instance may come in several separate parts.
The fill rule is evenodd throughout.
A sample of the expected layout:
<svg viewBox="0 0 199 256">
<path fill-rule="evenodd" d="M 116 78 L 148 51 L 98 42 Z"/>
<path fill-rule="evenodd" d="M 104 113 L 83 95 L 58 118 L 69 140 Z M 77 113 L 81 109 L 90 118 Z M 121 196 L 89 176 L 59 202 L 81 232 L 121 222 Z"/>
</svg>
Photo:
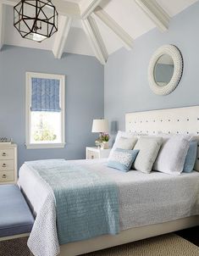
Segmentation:
<svg viewBox="0 0 199 256">
<path fill-rule="evenodd" d="M 199 225 L 199 215 L 159 224 L 135 227 L 121 231 L 119 235 L 116 236 L 105 235 L 91 238 L 86 241 L 64 244 L 61 246 L 61 253 L 59 256 L 76 256 L 83 253 L 91 253 L 124 243 L 135 242 L 149 237 L 156 237 L 170 232 L 180 231 L 196 225 Z"/>
</svg>

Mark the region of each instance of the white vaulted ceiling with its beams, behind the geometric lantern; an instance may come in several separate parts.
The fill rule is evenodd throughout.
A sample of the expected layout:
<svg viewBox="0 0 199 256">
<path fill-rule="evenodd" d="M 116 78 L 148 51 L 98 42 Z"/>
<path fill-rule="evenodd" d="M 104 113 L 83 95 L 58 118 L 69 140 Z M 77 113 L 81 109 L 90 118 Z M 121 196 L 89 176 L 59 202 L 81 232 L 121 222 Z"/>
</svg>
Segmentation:
<svg viewBox="0 0 199 256">
<path fill-rule="evenodd" d="M 26 40 L 14 28 L 13 6 L 18 2 L 0 0 L 0 48 L 8 44 L 46 49 L 56 58 L 62 53 L 96 55 L 105 64 L 108 54 L 120 47 L 130 49 L 135 38 L 152 28 L 166 31 L 169 19 L 197 0 L 54 0 L 60 14 L 58 32 L 43 42 Z"/>
</svg>

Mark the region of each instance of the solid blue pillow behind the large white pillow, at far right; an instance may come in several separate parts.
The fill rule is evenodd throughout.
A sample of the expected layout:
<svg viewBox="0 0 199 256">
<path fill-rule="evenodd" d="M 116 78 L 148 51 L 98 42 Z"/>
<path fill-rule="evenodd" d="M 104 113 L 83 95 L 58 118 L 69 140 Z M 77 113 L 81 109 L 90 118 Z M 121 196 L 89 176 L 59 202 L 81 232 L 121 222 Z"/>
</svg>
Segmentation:
<svg viewBox="0 0 199 256">
<path fill-rule="evenodd" d="M 194 169 L 194 164 L 196 162 L 196 154 L 197 154 L 197 142 L 190 142 L 190 147 L 186 154 L 185 164 L 183 172 L 191 172 Z"/>
</svg>

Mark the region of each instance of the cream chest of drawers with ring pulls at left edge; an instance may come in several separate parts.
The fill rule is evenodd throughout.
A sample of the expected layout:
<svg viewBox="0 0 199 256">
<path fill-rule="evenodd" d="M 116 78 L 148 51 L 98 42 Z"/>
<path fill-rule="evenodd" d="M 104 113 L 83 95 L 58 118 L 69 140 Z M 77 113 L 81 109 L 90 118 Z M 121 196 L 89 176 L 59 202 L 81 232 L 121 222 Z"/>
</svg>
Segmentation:
<svg viewBox="0 0 199 256">
<path fill-rule="evenodd" d="M 0 184 L 17 182 L 17 145 L 0 143 Z"/>
</svg>

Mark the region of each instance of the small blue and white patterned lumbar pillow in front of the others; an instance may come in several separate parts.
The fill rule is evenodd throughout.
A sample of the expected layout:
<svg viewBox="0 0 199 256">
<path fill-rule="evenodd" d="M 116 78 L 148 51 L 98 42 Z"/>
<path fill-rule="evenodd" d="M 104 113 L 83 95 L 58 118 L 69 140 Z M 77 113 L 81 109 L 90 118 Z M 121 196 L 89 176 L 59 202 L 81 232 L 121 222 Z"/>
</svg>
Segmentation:
<svg viewBox="0 0 199 256">
<path fill-rule="evenodd" d="M 129 171 L 138 152 L 139 150 L 116 148 L 108 158 L 108 167 L 122 170 L 124 172 Z"/>
</svg>

